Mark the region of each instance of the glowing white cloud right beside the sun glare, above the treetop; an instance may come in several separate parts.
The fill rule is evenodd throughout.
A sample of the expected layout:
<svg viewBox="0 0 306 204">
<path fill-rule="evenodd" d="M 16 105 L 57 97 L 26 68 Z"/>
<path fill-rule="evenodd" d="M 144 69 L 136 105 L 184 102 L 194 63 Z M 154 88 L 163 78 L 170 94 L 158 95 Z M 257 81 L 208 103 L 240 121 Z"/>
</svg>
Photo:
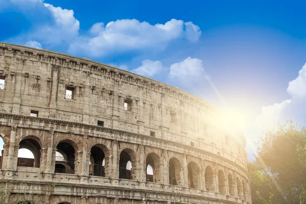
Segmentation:
<svg viewBox="0 0 306 204">
<path fill-rule="evenodd" d="M 260 127 L 264 127 L 264 129 L 273 128 L 277 122 L 282 120 L 282 113 L 290 103 L 291 99 L 288 99 L 279 104 L 263 106 L 261 114 L 256 118 L 256 122 Z"/>
</svg>

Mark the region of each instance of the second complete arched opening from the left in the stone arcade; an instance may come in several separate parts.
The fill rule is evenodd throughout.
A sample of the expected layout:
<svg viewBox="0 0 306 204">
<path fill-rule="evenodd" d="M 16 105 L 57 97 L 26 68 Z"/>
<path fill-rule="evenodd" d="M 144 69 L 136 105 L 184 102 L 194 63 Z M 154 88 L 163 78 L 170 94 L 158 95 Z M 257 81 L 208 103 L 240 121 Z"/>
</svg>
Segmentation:
<svg viewBox="0 0 306 204">
<path fill-rule="evenodd" d="M 55 172 L 74 174 L 75 149 L 70 144 L 72 141 L 63 141 L 57 145 L 55 158 Z M 59 165 L 61 164 L 61 165 Z M 63 166 L 65 168 L 63 168 Z M 60 168 L 57 168 L 60 167 Z"/>
</svg>

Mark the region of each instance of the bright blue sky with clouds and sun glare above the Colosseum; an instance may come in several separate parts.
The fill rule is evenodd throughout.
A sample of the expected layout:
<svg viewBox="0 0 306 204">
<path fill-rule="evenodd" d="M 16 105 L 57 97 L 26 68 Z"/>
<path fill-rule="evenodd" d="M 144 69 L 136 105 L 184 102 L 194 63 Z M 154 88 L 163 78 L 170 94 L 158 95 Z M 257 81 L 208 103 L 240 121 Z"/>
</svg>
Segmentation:
<svg viewBox="0 0 306 204">
<path fill-rule="evenodd" d="M 251 157 L 261 125 L 305 123 L 304 6 L 0 0 L 0 41 L 111 64 L 236 111 Z"/>
</svg>

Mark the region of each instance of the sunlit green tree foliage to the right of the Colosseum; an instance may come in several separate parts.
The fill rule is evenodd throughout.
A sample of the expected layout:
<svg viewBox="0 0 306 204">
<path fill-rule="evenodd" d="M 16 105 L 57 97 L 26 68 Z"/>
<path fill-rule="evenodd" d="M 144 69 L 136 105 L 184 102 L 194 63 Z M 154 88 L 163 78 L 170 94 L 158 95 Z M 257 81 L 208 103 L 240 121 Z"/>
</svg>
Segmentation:
<svg viewBox="0 0 306 204">
<path fill-rule="evenodd" d="M 306 203 L 306 129 L 278 124 L 259 140 L 258 157 L 248 163 L 252 203 Z"/>
</svg>

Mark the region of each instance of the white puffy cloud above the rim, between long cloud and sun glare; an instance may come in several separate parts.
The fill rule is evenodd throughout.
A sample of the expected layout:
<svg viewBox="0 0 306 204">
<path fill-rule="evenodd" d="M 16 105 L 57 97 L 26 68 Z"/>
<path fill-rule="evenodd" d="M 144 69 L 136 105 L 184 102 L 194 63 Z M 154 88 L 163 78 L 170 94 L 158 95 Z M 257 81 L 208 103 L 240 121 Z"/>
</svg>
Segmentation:
<svg viewBox="0 0 306 204">
<path fill-rule="evenodd" d="M 202 65 L 202 60 L 188 57 L 182 62 L 171 64 L 169 75 L 171 78 L 177 77 L 181 80 L 190 77 L 192 77 L 193 80 L 197 80 L 206 74 Z"/>
</svg>

